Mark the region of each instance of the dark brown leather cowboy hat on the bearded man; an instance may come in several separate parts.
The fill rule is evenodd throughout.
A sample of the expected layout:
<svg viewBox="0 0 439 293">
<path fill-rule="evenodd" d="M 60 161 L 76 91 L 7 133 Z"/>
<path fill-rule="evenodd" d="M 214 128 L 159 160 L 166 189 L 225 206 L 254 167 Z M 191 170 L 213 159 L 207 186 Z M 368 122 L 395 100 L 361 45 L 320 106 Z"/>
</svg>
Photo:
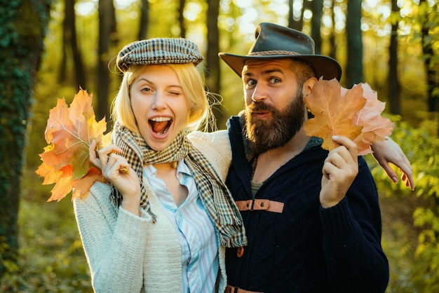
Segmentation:
<svg viewBox="0 0 439 293">
<path fill-rule="evenodd" d="M 275 25 L 269 22 L 260 23 L 255 30 L 255 43 L 247 55 L 219 53 L 224 62 L 241 76 L 246 60 L 273 59 L 273 58 L 299 58 L 309 62 L 316 71 L 319 79 L 337 79 L 342 77 L 340 64 L 324 55 L 316 55 L 314 41 L 310 36 L 289 27 Z"/>
</svg>

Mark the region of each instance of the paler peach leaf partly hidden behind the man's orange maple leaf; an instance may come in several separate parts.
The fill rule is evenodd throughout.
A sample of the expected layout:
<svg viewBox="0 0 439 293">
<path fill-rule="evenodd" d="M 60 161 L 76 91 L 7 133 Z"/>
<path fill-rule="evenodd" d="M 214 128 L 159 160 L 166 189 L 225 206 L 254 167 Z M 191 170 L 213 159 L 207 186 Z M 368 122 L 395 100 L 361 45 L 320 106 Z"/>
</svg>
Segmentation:
<svg viewBox="0 0 439 293">
<path fill-rule="evenodd" d="M 395 125 L 388 118 L 381 116 L 386 103 L 378 100 L 377 92 L 372 90 L 367 83 L 360 83 L 360 86 L 363 88 L 366 104 L 352 117 L 352 123 L 363 126 L 360 135 L 354 139 L 358 146 L 358 155 L 363 156 L 372 153 L 371 144 L 391 135 Z M 342 88 L 342 94 L 345 91 L 346 89 Z"/>
</svg>

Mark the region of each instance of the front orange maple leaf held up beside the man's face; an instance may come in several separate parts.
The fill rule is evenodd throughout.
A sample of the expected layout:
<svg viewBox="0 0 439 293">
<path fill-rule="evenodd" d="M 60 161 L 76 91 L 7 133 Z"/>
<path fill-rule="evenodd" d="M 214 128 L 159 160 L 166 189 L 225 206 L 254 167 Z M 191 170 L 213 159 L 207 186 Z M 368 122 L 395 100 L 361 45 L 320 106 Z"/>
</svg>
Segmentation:
<svg viewBox="0 0 439 293">
<path fill-rule="evenodd" d="M 353 125 L 351 120 L 364 107 L 365 102 L 361 87 L 354 87 L 342 95 L 337 79 L 320 79 L 313 86 L 311 94 L 304 97 L 306 107 L 314 115 L 304 123 L 306 135 L 322 138 L 322 148 L 328 151 L 338 147 L 332 141 L 332 135 L 355 139 L 363 127 Z"/>
</svg>

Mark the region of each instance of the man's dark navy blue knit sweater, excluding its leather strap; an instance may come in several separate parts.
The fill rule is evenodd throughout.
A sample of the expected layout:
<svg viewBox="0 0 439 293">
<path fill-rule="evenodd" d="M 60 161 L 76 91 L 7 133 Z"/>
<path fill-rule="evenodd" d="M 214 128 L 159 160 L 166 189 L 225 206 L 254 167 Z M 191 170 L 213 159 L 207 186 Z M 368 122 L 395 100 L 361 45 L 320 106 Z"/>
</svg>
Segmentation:
<svg viewBox="0 0 439 293">
<path fill-rule="evenodd" d="M 233 159 L 227 186 L 252 199 L 238 117 L 229 120 Z M 256 292 L 384 292 L 389 264 L 381 248 L 376 186 L 362 157 L 351 188 L 335 207 L 319 201 L 327 151 L 311 147 L 262 184 L 255 198 L 284 203 L 283 212 L 242 211 L 248 246 L 228 249 L 229 285 Z"/>
</svg>

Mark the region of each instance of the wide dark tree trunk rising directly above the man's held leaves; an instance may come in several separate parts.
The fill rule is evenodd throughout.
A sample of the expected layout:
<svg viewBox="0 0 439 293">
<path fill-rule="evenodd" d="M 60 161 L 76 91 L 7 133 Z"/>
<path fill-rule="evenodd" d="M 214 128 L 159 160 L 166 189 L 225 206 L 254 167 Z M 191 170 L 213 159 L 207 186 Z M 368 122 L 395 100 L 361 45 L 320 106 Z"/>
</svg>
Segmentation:
<svg viewBox="0 0 439 293">
<path fill-rule="evenodd" d="M 349 0 L 346 13 L 347 88 L 363 82 L 363 39 L 361 33 L 361 0 Z"/>
</svg>

